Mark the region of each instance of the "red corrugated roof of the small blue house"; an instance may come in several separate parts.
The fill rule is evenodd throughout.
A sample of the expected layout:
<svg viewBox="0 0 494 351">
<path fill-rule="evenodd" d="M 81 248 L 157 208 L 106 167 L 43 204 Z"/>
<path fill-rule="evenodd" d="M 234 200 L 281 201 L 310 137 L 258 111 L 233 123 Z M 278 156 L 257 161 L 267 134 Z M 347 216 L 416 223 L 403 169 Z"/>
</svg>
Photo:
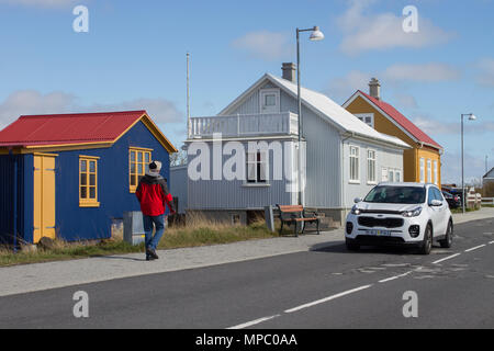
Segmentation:
<svg viewBox="0 0 494 351">
<path fill-rule="evenodd" d="M 0 147 L 114 141 L 146 111 L 21 116 L 0 132 Z"/>
</svg>

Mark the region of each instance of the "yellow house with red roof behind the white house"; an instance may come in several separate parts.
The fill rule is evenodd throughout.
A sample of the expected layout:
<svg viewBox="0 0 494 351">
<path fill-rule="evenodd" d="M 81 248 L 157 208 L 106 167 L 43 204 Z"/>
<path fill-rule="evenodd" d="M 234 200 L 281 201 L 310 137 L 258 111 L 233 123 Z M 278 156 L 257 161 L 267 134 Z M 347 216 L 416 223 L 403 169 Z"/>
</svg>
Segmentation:
<svg viewBox="0 0 494 351">
<path fill-rule="evenodd" d="M 369 94 L 358 90 L 344 107 L 380 133 L 395 136 L 409 146 L 403 155 L 405 182 L 441 184 L 442 147 L 391 104 L 381 100 L 381 84 L 372 78 Z M 393 181 L 393 173 L 381 170 L 381 181 Z"/>
</svg>

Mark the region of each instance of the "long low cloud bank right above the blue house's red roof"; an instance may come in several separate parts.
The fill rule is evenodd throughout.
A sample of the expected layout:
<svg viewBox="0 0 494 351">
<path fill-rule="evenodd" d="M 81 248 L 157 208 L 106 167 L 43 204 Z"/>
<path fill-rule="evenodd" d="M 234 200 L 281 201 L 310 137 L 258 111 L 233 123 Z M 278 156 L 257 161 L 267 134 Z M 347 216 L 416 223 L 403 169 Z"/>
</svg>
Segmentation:
<svg viewBox="0 0 494 351">
<path fill-rule="evenodd" d="M 22 90 L 10 94 L 0 102 L 0 129 L 21 115 L 58 114 L 78 112 L 146 110 L 149 116 L 160 123 L 184 123 L 183 113 L 176 104 L 165 99 L 135 99 L 115 104 L 77 104 L 77 98 L 65 92 L 42 94 L 35 90 Z"/>
</svg>

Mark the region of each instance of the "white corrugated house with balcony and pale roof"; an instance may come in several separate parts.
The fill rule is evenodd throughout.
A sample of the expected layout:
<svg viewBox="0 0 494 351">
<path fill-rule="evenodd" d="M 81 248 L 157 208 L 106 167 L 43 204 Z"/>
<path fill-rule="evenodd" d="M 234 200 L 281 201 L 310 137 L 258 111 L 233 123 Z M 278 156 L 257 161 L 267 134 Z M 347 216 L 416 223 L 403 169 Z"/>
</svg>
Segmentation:
<svg viewBox="0 0 494 351">
<path fill-rule="evenodd" d="M 382 169 L 394 170 L 395 181 L 402 180 L 407 144 L 377 132 L 325 94 L 305 88 L 299 151 L 295 75 L 293 65 L 283 68 L 284 78 L 263 75 L 218 115 L 191 118 L 186 141 L 188 211 L 248 223 L 267 205 L 297 204 L 302 189 L 304 206 L 340 225 L 353 199 L 364 196 L 382 180 Z M 221 144 L 217 138 L 214 141 L 220 134 Z M 265 148 L 249 150 L 249 141 Z M 221 167 L 228 169 L 234 156 L 245 162 L 245 179 L 222 174 Z"/>
</svg>

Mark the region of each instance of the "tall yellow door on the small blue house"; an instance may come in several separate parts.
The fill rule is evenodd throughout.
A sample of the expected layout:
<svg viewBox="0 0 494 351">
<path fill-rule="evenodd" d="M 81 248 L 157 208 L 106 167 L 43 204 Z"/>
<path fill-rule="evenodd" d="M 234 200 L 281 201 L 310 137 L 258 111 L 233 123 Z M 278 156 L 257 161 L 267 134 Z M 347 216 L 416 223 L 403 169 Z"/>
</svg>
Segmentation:
<svg viewBox="0 0 494 351">
<path fill-rule="evenodd" d="M 55 157 L 34 155 L 34 244 L 55 239 Z"/>
</svg>

